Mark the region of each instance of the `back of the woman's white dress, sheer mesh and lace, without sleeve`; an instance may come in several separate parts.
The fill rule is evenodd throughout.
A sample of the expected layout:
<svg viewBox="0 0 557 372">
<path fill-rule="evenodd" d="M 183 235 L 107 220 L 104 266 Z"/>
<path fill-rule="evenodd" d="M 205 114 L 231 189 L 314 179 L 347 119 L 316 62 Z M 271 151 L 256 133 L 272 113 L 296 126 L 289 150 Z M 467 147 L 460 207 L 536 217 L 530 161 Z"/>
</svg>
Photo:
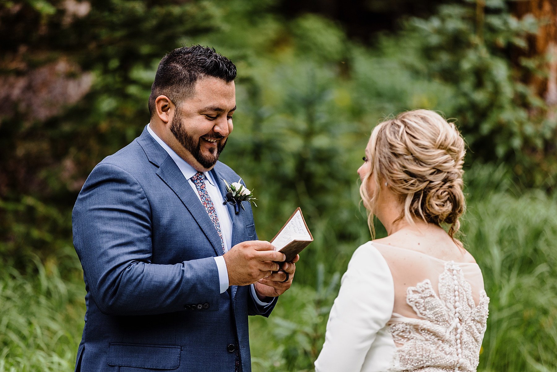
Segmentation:
<svg viewBox="0 0 557 372">
<path fill-rule="evenodd" d="M 489 298 L 476 263 L 374 244 L 393 276 L 391 371 L 475 372 Z"/>
</svg>

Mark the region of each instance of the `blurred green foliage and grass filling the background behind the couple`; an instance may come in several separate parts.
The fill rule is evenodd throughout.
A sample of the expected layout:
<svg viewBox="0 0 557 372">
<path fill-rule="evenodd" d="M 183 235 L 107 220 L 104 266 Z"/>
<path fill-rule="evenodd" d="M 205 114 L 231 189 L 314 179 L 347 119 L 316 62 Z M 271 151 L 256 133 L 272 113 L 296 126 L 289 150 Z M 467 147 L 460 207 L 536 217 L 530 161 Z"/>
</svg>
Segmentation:
<svg viewBox="0 0 557 372">
<path fill-rule="evenodd" d="M 481 20 L 475 1 L 452 3 L 368 46 L 320 16 L 285 20 L 273 0 L 103 0 L 70 23 L 61 1 L 0 4 L 0 31 L 11 31 L 4 61 L 20 56 L 33 68 L 63 57 L 94 76 L 53 117 L 14 105 L 0 118 L 0 372 L 72 370 L 85 291 L 71 207 L 92 167 L 148 122 L 162 55 L 190 44 L 238 67 L 221 160 L 254 189 L 258 235 L 272 238 L 301 206 L 315 238 L 271 318 L 251 319 L 254 371 L 311 370 L 340 274 L 369 240 L 356 175 L 369 133 L 413 108 L 456 118 L 469 146 L 463 240 L 491 297 L 480 370 L 556 370 L 557 123 L 520 82 L 544 71 L 509 56 L 538 23 L 510 16 L 504 0 L 486 4 Z"/>
</svg>

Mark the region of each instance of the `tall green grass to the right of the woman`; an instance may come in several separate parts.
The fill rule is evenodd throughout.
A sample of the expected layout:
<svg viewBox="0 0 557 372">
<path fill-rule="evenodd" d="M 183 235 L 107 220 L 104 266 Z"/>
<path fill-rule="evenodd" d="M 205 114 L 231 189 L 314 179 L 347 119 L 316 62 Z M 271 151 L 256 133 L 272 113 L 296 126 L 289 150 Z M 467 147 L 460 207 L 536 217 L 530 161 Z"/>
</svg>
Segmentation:
<svg viewBox="0 0 557 372">
<path fill-rule="evenodd" d="M 470 173 L 483 187 L 469 189 L 463 231 L 491 298 L 480 368 L 555 371 L 557 199 L 539 190 L 516 195 L 501 169 Z"/>
</svg>

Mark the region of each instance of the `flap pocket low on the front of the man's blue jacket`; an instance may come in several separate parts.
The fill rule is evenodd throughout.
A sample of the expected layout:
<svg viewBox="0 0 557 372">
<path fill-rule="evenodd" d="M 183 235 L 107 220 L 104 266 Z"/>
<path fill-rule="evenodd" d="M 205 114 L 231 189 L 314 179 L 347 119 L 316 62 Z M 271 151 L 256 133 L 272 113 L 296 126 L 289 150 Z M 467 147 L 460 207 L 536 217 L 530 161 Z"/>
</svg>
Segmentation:
<svg viewBox="0 0 557 372">
<path fill-rule="evenodd" d="M 110 342 L 108 365 L 146 369 L 177 369 L 181 346 Z"/>
</svg>

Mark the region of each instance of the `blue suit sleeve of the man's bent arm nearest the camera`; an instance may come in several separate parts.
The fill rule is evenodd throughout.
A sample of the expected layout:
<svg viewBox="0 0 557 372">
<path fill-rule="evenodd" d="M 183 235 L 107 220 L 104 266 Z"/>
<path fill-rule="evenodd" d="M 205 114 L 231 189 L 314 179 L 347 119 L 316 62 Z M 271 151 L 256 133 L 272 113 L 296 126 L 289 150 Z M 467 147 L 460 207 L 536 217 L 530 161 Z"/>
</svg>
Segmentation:
<svg viewBox="0 0 557 372">
<path fill-rule="evenodd" d="M 151 209 L 130 173 L 101 163 L 72 212 L 74 246 L 90 295 L 110 315 L 150 315 L 209 303 L 216 310 L 219 278 L 213 257 L 153 264 Z M 214 304 L 213 306 L 210 306 Z"/>
</svg>

